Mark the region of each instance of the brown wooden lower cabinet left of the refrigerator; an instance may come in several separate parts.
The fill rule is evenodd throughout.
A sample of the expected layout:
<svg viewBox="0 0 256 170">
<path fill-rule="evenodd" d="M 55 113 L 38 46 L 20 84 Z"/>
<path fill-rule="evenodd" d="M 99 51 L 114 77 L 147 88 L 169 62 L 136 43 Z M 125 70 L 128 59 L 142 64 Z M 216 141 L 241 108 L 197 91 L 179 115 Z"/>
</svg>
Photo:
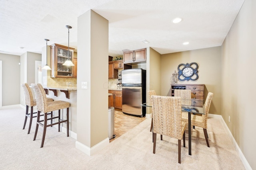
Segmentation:
<svg viewBox="0 0 256 170">
<path fill-rule="evenodd" d="M 122 109 L 122 90 L 108 90 L 108 93 L 113 94 L 108 98 L 110 107 Z"/>
</svg>

